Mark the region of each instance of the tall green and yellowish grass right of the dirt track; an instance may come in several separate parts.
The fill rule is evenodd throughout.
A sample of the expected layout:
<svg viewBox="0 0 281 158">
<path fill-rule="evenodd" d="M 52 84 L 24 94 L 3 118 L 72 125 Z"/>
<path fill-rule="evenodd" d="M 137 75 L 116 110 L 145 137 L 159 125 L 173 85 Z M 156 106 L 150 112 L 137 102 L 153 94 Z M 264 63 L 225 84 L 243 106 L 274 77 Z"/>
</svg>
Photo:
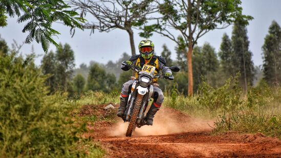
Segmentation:
<svg viewBox="0 0 281 158">
<path fill-rule="evenodd" d="M 213 133 L 261 132 L 281 139 L 281 87 L 269 87 L 262 81 L 245 94 L 237 85 L 235 79 L 218 88 L 203 82 L 199 93 L 192 97 L 180 95 L 173 89 L 165 97 L 164 106 L 193 117 L 218 118 Z"/>
</svg>

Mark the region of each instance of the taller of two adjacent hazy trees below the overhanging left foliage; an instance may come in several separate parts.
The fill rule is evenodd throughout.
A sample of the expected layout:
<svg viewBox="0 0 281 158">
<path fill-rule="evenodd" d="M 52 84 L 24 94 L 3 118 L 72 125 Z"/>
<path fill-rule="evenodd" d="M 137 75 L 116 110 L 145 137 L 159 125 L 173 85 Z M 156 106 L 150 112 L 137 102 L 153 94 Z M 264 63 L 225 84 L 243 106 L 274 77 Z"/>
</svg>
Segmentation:
<svg viewBox="0 0 281 158">
<path fill-rule="evenodd" d="M 70 86 L 69 83 L 71 82 L 72 73 L 74 69 L 74 52 L 71 49 L 68 43 L 59 44 L 61 49 L 56 51 L 56 60 L 57 60 L 57 83 L 60 85 L 59 88 L 67 91 Z"/>
</svg>

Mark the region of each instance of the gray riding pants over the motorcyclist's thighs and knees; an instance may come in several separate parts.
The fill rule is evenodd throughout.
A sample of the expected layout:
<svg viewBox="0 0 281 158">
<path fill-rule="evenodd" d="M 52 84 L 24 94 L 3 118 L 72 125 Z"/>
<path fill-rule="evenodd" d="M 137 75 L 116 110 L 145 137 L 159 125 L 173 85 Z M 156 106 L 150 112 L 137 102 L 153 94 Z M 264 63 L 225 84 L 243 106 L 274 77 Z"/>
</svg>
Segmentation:
<svg viewBox="0 0 281 158">
<path fill-rule="evenodd" d="M 125 82 L 123 84 L 123 87 L 122 87 L 122 92 L 121 94 L 122 95 L 129 95 L 128 92 L 129 92 L 129 87 L 130 85 L 133 85 L 135 81 L 134 80 L 129 80 L 127 82 Z M 164 101 L 164 95 L 163 95 L 163 92 L 160 88 L 156 87 L 156 86 L 153 86 L 153 95 L 152 95 L 152 98 L 154 99 L 154 102 L 157 104 L 157 105 L 160 105 L 163 103 Z"/>
</svg>

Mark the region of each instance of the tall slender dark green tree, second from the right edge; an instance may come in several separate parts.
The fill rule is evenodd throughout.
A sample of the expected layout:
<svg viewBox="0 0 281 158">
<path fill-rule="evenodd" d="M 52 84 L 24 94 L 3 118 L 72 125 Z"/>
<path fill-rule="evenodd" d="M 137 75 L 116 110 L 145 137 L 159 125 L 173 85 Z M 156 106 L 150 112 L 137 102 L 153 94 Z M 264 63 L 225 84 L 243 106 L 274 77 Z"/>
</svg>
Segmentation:
<svg viewBox="0 0 281 158">
<path fill-rule="evenodd" d="M 252 53 L 249 51 L 249 40 L 247 36 L 247 28 L 240 22 L 235 22 L 232 31 L 232 48 L 234 52 L 234 65 L 240 70 L 240 83 L 247 92 L 247 84 L 252 85 L 254 79 L 254 64 L 252 61 Z"/>
</svg>

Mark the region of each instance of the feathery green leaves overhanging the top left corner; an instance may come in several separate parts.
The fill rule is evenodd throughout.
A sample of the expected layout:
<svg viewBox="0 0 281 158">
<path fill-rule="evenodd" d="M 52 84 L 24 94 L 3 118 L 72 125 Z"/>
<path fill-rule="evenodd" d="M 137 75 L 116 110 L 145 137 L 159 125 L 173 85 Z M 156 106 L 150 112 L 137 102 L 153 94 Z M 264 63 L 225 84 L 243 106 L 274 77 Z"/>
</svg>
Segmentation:
<svg viewBox="0 0 281 158">
<path fill-rule="evenodd" d="M 52 37 L 59 34 L 52 29 L 53 22 L 61 21 L 65 26 L 80 29 L 82 26 L 79 22 L 84 22 L 83 18 L 78 17 L 78 13 L 68 10 L 70 6 L 62 0 L 4 0 L 0 2 L 0 8 L 11 17 L 18 16 L 18 23 L 28 21 L 23 29 L 24 33 L 29 32 L 26 43 L 36 40 L 37 43 L 41 43 L 46 53 L 50 43 L 59 49 L 59 45 Z"/>
</svg>

